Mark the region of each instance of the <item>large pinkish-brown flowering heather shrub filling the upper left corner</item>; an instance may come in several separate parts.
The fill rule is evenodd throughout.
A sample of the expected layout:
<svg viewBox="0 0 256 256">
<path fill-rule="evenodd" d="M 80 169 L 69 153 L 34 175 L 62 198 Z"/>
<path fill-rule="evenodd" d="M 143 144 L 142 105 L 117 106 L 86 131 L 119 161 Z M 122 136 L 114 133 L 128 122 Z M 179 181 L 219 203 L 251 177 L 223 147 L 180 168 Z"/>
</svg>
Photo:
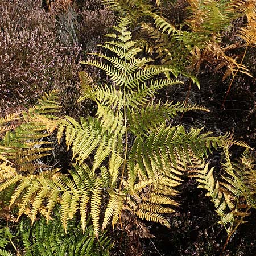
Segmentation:
<svg viewBox="0 0 256 256">
<path fill-rule="evenodd" d="M 41 1 L 0 1 L 0 24 L 0 114 L 34 104 L 49 89 L 76 93 L 79 48 L 59 42 Z"/>
</svg>

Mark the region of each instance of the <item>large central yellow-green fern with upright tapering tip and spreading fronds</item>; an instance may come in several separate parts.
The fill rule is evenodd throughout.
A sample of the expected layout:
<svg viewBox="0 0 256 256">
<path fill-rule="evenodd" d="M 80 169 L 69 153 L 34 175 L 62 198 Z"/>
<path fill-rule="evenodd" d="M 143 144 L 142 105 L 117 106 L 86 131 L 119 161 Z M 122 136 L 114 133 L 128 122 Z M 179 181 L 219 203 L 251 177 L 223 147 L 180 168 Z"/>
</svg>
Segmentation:
<svg viewBox="0 0 256 256">
<path fill-rule="evenodd" d="M 127 18 L 119 19 L 116 33 L 106 35 L 112 40 L 102 47 L 110 55 L 93 53 L 105 62 L 83 62 L 105 71 L 112 83 L 95 84 L 86 72 L 79 73 L 80 101 L 96 102 L 96 116 L 76 121 L 49 114 L 59 109 L 52 93 L 23 113 L 18 126 L 2 137 L 0 191 L 15 184 L 10 205 L 18 205 L 18 217 L 26 214 L 34 222 L 40 213 L 49 221 L 59 205 L 66 231 L 67 221 L 77 213 L 85 231 L 90 214 L 97 237 L 109 223 L 122 226 L 125 212 L 169 226 L 166 214 L 179 205 L 175 197 L 185 172 L 203 161 L 211 148 L 246 146 L 229 135 L 214 137 L 202 134 L 202 129 L 169 125 L 179 112 L 207 109 L 153 101 L 158 90 L 181 82 L 162 78 L 172 72 L 170 67 L 136 57 L 142 49 L 131 40 L 128 25 Z M 4 129 L 10 118 L 3 119 Z M 53 151 L 47 139 L 53 131 L 72 151 L 68 172 L 44 163 Z"/>
</svg>

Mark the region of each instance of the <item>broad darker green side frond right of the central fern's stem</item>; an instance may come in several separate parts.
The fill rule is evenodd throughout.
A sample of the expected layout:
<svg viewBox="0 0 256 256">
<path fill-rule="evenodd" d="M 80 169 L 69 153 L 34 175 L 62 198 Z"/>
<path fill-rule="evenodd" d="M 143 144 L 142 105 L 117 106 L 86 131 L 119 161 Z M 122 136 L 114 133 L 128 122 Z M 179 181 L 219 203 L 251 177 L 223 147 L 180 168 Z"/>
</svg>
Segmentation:
<svg viewBox="0 0 256 256">
<path fill-rule="evenodd" d="M 189 162 L 192 154 L 202 158 L 208 154 L 212 143 L 221 143 L 222 137 L 208 137 L 208 134 L 202 137 L 200 131 L 201 129 L 192 129 L 186 133 L 182 126 L 162 125 L 157 132 L 151 131 L 146 139 L 142 137 L 135 139 L 129 164 L 134 167 L 137 161 L 141 170 L 148 167 L 154 170 L 157 167 L 158 170 L 163 171 L 166 168 L 170 170 L 171 166 L 177 168 L 179 161 Z"/>
</svg>

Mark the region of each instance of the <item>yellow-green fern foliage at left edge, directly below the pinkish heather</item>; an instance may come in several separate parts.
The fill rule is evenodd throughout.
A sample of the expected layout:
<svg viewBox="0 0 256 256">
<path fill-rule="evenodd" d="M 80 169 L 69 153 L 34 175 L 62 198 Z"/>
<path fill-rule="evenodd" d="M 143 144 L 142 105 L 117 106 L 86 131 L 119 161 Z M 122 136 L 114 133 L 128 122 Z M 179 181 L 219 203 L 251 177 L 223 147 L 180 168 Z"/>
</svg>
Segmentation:
<svg viewBox="0 0 256 256">
<path fill-rule="evenodd" d="M 36 160 L 50 154 L 51 147 L 48 146 L 51 143 L 43 138 L 51 134 L 56 126 L 55 117 L 52 115 L 60 108 L 55 102 L 56 93 L 46 94 L 39 101 L 40 105 L 30 108 L 28 112 L 10 114 L 0 119 L 0 134 L 3 133 L 0 141 L 0 158 L 3 160 L 1 166 L 7 173 L 14 169 L 15 164 L 18 171 L 28 171 L 32 174 L 40 166 Z M 14 177 L 14 173 L 11 176 L 7 173 L 7 176 L 3 175 L 3 179 L 13 177 L 15 182 L 18 178 Z"/>
</svg>

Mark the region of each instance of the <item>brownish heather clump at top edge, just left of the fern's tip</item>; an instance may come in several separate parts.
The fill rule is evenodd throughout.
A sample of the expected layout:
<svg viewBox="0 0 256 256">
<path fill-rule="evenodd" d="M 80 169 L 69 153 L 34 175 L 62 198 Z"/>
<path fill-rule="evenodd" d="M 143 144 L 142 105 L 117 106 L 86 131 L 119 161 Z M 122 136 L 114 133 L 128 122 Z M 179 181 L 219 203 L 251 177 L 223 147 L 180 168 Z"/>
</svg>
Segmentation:
<svg viewBox="0 0 256 256">
<path fill-rule="evenodd" d="M 114 12 L 101 0 L 52 0 L 45 7 L 56 19 L 60 41 L 65 45 L 79 44 L 87 52 L 102 42 L 102 35 L 115 20 Z"/>
</svg>

